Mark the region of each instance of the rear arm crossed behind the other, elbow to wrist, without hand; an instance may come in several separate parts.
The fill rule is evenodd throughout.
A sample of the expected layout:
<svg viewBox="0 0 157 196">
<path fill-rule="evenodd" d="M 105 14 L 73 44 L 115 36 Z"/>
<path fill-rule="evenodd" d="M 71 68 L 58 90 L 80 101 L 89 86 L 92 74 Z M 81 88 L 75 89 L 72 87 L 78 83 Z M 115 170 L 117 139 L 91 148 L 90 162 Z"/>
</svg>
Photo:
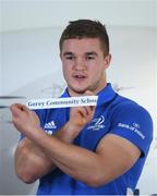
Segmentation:
<svg viewBox="0 0 157 196">
<path fill-rule="evenodd" d="M 73 130 L 75 128 L 75 130 Z M 63 143 L 71 143 L 80 133 L 76 127 L 69 127 L 68 123 L 53 136 Z M 23 138 L 15 150 L 15 173 L 25 183 L 36 180 L 56 169 L 55 162 L 49 159 L 43 149 L 27 137 Z"/>
</svg>

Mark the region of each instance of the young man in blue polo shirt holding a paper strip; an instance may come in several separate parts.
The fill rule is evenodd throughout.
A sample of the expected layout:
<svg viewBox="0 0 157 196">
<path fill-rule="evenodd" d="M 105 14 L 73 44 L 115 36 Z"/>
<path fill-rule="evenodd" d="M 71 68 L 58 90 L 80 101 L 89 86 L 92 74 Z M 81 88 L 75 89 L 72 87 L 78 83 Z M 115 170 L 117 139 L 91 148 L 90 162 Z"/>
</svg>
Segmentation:
<svg viewBox="0 0 157 196">
<path fill-rule="evenodd" d="M 134 192 L 153 139 L 148 112 L 107 83 L 111 54 L 105 26 L 70 22 L 60 39 L 67 89 L 62 97 L 98 95 L 96 107 L 31 111 L 11 106 L 25 137 L 15 151 L 15 172 L 39 179 L 38 195 L 125 195 Z M 53 122 L 53 126 L 47 124 Z M 47 134 L 51 128 L 52 135 Z"/>
</svg>

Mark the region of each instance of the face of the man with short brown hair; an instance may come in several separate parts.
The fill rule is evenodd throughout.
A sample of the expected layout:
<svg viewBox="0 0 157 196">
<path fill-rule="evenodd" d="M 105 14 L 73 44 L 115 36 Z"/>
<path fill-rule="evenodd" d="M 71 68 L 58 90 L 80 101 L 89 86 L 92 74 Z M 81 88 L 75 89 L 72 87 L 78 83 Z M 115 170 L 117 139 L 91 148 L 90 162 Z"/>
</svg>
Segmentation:
<svg viewBox="0 0 157 196">
<path fill-rule="evenodd" d="M 106 86 L 105 70 L 110 56 L 104 56 L 98 38 L 67 39 L 60 56 L 71 96 L 87 89 L 97 93 Z"/>
</svg>

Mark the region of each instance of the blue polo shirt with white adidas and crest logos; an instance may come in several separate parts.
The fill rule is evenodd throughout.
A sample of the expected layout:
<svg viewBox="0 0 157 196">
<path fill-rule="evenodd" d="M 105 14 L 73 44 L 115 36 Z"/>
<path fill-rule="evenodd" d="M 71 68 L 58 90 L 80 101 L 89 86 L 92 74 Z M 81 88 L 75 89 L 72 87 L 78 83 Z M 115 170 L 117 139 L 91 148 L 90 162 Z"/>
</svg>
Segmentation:
<svg viewBox="0 0 157 196">
<path fill-rule="evenodd" d="M 61 97 L 69 97 L 68 90 Z M 70 118 L 70 108 L 36 110 L 41 127 L 48 134 L 59 131 Z M 118 95 L 108 84 L 99 94 L 93 120 L 74 139 L 74 145 L 95 151 L 106 134 L 119 135 L 141 150 L 141 157 L 124 174 L 112 182 L 90 187 L 56 169 L 40 179 L 38 195 L 125 195 L 134 191 L 142 173 L 150 143 L 153 121 L 149 113 L 136 102 Z"/>
</svg>

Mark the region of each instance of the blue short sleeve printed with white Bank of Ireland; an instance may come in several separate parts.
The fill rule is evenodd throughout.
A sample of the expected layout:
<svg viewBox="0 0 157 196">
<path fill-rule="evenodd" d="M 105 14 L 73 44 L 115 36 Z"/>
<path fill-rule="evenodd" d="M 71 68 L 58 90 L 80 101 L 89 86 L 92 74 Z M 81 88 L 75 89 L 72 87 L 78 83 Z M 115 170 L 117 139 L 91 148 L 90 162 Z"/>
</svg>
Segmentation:
<svg viewBox="0 0 157 196">
<path fill-rule="evenodd" d="M 146 156 L 153 140 L 153 121 L 147 110 L 137 103 L 121 103 L 112 114 L 110 133 L 126 138 Z"/>
</svg>

